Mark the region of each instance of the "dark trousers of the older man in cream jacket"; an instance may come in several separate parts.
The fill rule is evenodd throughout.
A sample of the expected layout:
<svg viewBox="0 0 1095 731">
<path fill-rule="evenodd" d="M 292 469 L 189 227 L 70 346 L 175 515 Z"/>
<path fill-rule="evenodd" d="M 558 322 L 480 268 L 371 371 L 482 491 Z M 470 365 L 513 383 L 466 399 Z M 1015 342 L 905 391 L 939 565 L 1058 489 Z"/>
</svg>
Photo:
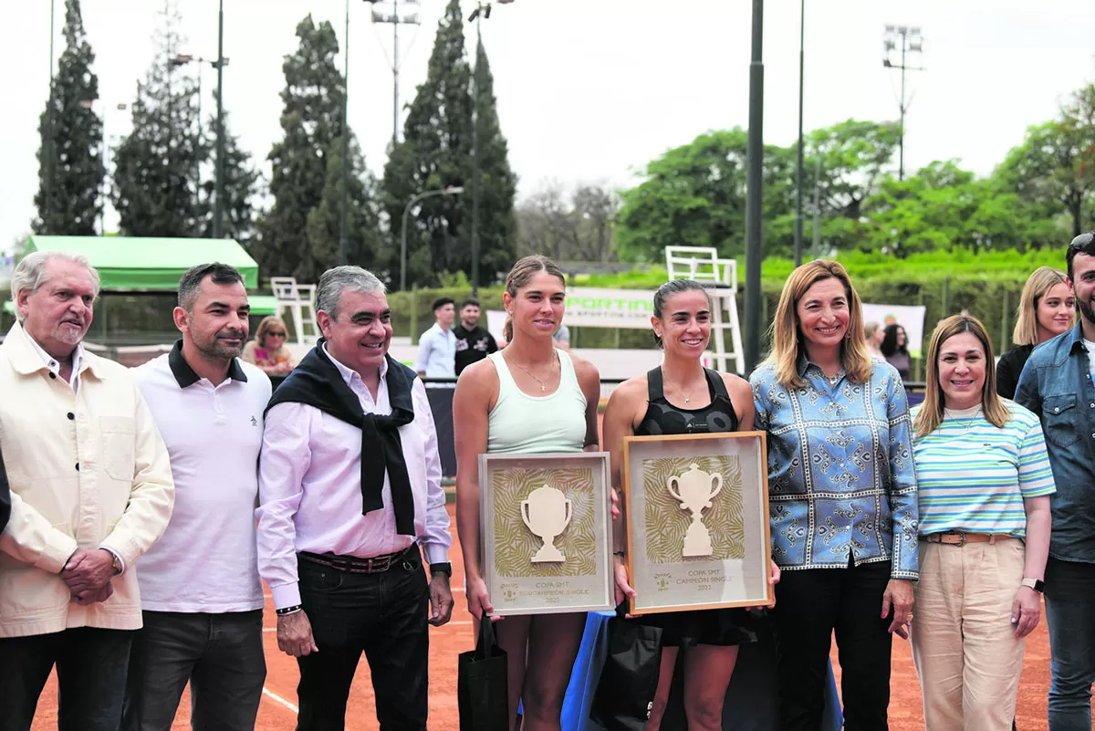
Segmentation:
<svg viewBox="0 0 1095 731">
<path fill-rule="evenodd" d="M 77 627 L 0 639 L 0 731 L 30 731 L 57 665 L 60 731 L 117 731 L 132 633 Z"/>
</svg>

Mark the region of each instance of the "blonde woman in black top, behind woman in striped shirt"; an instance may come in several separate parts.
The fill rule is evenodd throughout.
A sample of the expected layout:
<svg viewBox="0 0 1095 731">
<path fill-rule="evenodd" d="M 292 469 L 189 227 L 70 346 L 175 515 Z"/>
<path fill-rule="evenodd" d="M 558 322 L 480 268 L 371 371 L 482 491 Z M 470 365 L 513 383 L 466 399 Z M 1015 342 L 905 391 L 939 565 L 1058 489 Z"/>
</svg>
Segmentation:
<svg viewBox="0 0 1095 731">
<path fill-rule="evenodd" d="M 1019 374 L 1035 346 L 1072 329 L 1075 314 L 1075 297 L 1064 272 L 1053 267 L 1035 269 L 1019 295 L 1018 317 L 1012 334 L 1018 347 L 1005 352 L 996 363 L 998 394 L 1015 398 Z"/>
</svg>

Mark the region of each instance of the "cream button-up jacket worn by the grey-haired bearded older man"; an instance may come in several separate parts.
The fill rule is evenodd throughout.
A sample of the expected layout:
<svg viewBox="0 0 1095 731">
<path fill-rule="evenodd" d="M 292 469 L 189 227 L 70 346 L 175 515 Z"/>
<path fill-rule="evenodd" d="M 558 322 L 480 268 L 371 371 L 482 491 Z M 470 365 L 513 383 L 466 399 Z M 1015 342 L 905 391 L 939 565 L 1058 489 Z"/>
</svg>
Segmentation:
<svg viewBox="0 0 1095 731">
<path fill-rule="evenodd" d="M 73 393 L 15 324 L 0 345 L 0 449 L 12 498 L 0 533 L 0 637 L 140 628 L 137 559 L 163 535 L 175 488 L 126 368 L 84 351 Z M 60 571 L 78 548 L 124 561 L 107 601 L 72 601 Z"/>
</svg>

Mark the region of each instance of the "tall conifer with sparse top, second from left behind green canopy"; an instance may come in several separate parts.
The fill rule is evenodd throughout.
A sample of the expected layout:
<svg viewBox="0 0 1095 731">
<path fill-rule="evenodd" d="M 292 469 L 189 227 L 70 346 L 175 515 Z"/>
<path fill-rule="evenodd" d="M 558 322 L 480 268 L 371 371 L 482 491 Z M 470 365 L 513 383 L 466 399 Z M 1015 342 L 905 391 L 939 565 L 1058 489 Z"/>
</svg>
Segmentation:
<svg viewBox="0 0 1095 731">
<path fill-rule="evenodd" d="M 128 236 L 198 236 L 205 218 L 201 164 L 209 143 L 198 135 L 197 83 L 180 73 L 180 19 L 169 7 L 158 49 L 132 105 L 132 131 L 114 153 L 111 198 Z"/>
</svg>

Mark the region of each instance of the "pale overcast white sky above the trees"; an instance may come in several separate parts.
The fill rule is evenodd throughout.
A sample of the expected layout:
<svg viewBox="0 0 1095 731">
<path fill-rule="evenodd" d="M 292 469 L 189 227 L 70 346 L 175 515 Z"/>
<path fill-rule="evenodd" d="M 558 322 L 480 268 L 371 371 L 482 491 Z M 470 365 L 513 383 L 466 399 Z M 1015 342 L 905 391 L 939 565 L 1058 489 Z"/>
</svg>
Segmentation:
<svg viewBox="0 0 1095 731">
<path fill-rule="evenodd" d="M 173 0 L 180 50 L 215 58 L 218 0 Z M 55 56 L 64 46 L 57 2 Z M 349 121 L 378 174 L 392 134 L 392 26 L 350 0 Z M 37 189 L 38 116 L 48 95 L 50 0 L 24 0 L 0 26 L 0 251 L 28 231 Z M 401 27 L 401 100 L 425 79 L 443 0 L 423 0 L 422 26 Z M 390 8 L 390 3 L 388 4 Z M 746 0 L 516 0 L 483 23 L 519 196 L 551 181 L 625 187 L 665 150 L 748 123 L 750 7 Z M 464 0 L 465 12 L 473 8 Z M 82 0 L 96 54 L 106 132 L 128 130 L 136 82 L 152 60 L 163 0 Z M 224 0 L 224 105 L 232 131 L 268 171 L 280 137 L 281 60 L 311 12 L 344 39 L 343 0 Z M 769 0 L 764 24 L 764 140 L 797 136 L 798 3 Z M 898 77 L 883 68 L 883 27 L 919 25 L 925 71 L 910 74 L 906 161 L 958 158 L 988 174 L 1030 124 L 1051 118 L 1095 79 L 1093 0 L 810 0 L 805 126 L 895 119 Z M 417 34 L 415 31 L 417 30 Z M 465 26 L 469 50 L 474 27 Z M 413 38 L 413 43 L 412 43 Z M 345 48 L 345 46 L 343 46 Z M 342 62 L 339 61 L 339 66 Z M 206 68 L 210 92 L 215 72 Z M 212 108 L 211 97 L 204 102 Z M 268 175 L 268 172 L 267 172 Z M 114 219 L 116 221 L 116 218 Z M 111 217 L 107 229 L 112 229 Z"/>
</svg>

